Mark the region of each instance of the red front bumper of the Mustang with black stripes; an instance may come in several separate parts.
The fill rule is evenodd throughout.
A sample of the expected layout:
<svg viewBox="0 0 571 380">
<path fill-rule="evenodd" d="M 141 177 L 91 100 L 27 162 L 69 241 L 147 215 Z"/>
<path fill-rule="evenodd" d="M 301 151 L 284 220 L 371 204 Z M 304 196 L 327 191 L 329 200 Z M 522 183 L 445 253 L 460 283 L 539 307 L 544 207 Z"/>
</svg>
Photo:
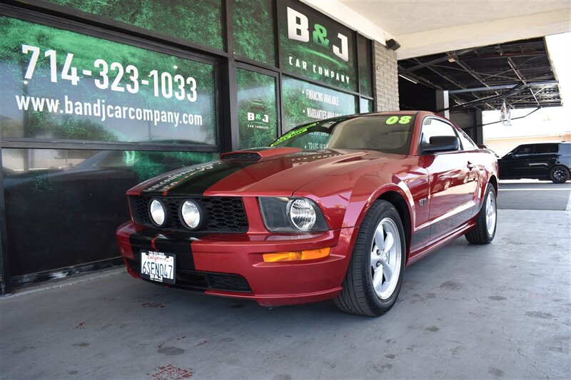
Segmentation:
<svg viewBox="0 0 571 380">
<path fill-rule="evenodd" d="M 176 255 L 176 284 L 165 285 L 263 306 L 302 304 L 336 297 L 347 271 L 358 227 L 303 235 L 165 233 L 128 222 L 117 241 L 128 272 L 137 278 L 141 250 Z M 264 253 L 331 247 L 328 257 L 264 262 Z M 160 284 L 158 282 L 154 282 Z"/>
</svg>

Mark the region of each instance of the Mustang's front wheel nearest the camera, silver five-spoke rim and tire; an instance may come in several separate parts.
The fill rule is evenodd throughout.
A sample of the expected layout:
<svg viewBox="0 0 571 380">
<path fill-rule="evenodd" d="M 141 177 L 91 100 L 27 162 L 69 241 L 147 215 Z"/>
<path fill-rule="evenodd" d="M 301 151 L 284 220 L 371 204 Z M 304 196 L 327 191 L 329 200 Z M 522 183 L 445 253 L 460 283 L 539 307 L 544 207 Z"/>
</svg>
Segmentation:
<svg viewBox="0 0 571 380">
<path fill-rule="evenodd" d="M 395 304 L 405 272 L 403 222 L 395 207 L 376 200 L 360 225 L 335 305 L 351 314 L 378 317 Z"/>
</svg>

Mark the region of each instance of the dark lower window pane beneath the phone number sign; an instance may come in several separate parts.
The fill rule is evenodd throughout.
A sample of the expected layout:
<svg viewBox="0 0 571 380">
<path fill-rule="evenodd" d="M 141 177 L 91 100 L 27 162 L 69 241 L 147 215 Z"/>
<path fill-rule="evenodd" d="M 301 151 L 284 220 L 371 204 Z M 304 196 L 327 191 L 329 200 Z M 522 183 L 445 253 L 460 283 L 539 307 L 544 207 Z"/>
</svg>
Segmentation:
<svg viewBox="0 0 571 380">
<path fill-rule="evenodd" d="M 117 256 L 114 232 L 128 220 L 126 190 L 160 173 L 217 156 L 2 148 L 11 276 Z"/>
</svg>

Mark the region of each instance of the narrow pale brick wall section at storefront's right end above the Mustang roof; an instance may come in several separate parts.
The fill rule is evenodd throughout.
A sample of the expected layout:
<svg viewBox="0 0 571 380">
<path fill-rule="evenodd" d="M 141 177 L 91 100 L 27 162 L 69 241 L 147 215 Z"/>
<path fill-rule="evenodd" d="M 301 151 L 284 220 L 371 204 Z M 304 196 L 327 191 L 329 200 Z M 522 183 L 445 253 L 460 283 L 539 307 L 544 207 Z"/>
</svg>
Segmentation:
<svg viewBox="0 0 571 380">
<path fill-rule="evenodd" d="M 377 111 L 398 110 L 397 53 L 377 41 L 373 49 Z"/>
</svg>

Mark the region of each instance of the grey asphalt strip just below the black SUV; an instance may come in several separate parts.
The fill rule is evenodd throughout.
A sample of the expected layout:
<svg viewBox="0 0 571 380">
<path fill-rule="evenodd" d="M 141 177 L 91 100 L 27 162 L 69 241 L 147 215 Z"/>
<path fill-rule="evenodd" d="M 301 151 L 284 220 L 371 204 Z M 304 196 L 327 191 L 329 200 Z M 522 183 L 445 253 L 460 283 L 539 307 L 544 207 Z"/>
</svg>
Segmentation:
<svg viewBox="0 0 571 380">
<path fill-rule="evenodd" d="M 571 181 L 500 180 L 497 207 L 508 210 L 571 210 Z"/>
</svg>

